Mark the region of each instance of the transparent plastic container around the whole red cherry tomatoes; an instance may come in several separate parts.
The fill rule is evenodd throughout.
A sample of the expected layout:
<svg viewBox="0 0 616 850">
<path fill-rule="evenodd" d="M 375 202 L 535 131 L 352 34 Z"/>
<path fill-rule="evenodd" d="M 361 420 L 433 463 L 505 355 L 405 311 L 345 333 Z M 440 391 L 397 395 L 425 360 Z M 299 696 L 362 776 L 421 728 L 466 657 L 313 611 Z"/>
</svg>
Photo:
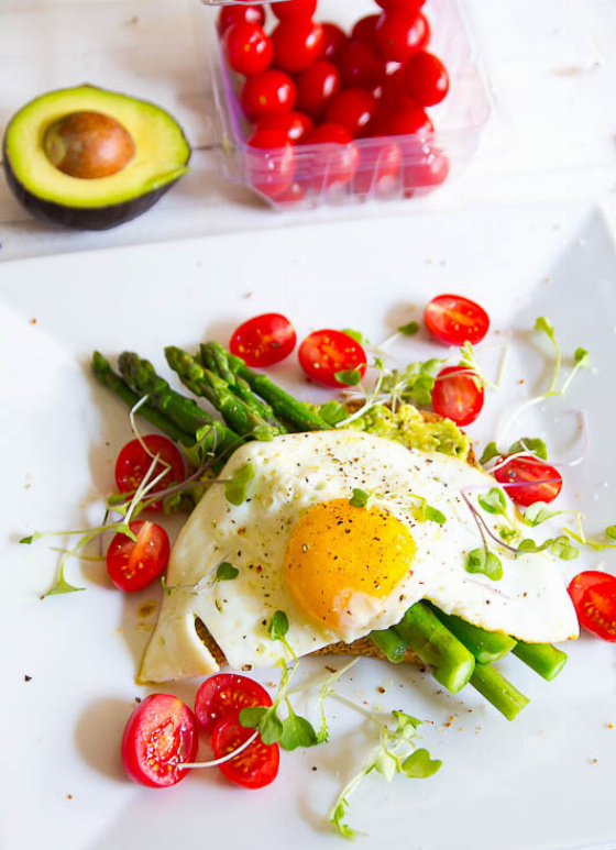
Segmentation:
<svg viewBox="0 0 616 850">
<path fill-rule="evenodd" d="M 315 20 L 337 23 L 350 32 L 360 18 L 380 11 L 371 0 L 320 0 Z M 219 8 L 205 8 L 226 177 L 257 191 L 273 207 L 288 209 L 417 197 L 459 174 L 471 162 L 490 118 L 488 87 L 462 0 L 427 0 L 422 11 L 432 30 L 428 49 L 444 62 L 450 75 L 448 96 L 427 110 L 435 132 L 421 137 L 356 139 L 354 161 L 359 165 L 351 179 L 346 165 L 341 165 L 343 146 L 296 145 L 292 154 L 294 179 L 279 191 L 276 175 L 280 170 L 288 174 L 289 153 L 284 148 L 264 152 L 248 144 L 254 125 L 239 101 L 244 78 L 226 62 L 216 33 Z M 267 10 L 265 30 L 272 32 L 275 23 Z"/>
</svg>

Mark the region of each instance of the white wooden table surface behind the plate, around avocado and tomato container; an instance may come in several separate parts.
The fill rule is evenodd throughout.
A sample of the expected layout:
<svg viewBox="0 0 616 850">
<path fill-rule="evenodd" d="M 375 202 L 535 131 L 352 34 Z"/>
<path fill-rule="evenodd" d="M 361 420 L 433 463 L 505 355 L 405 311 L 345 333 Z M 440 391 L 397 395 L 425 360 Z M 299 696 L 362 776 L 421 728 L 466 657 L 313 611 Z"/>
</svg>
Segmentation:
<svg viewBox="0 0 616 850">
<path fill-rule="evenodd" d="M 603 201 L 616 210 L 616 5 L 612 0 L 466 0 L 496 111 L 458 180 L 411 202 L 274 213 L 217 172 L 196 0 L 0 0 L 0 125 L 38 93 L 81 81 L 170 110 L 191 173 L 146 216 L 103 233 L 33 221 L 0 180 L 1 260 L 353 217 L 413 217 L 521 202 Z M 460 219 L 464 228 L 464 219 Z"/>
</svg>

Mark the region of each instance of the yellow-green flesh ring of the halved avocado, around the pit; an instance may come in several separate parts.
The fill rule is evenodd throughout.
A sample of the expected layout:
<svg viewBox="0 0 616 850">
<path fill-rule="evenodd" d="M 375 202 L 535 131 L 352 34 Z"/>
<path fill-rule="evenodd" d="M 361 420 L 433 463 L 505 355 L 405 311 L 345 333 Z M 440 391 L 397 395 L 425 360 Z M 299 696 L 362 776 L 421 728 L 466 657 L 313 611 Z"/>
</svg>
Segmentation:
<svg viewBox="0 0 616 850">
<path fill-rule="evenodd" d="M 79 179 L 52 165 L 43 150 L 45 132 L 77 111 L 102 112 L 125 128 L 135 155 L 124 168 L 109 177 Z M 188 170 L 189 158 L 182 128 L 165 110 L 94 86 L 52 91 L 32 100 L 12 118 L 4 135 L 4 159 L 23 194 L 73 209 L 113 207 L 158 191 Z"/>
</svg>

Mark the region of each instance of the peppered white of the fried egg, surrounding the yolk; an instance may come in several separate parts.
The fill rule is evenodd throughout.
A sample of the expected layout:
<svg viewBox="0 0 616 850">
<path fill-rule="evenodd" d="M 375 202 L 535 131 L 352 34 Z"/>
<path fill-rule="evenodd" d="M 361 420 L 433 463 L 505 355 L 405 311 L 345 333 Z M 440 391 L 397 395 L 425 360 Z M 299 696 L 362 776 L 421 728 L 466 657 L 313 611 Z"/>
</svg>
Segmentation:
<svg viewBox="0 0 616 850">
<path fill-rule="evenodd" d="M 515 559 L 499 553 L 504 575 L 493 582 L 465 570 L 466 556 L 482 545 L 462 490 L 476 504 L 494 479 L 459 459 L 408 450 L 359 431 L 286 434 L 239 449 L 220 475 L 251 463 L 255 473 L 246 500 L 231 505 L 222 484 L 212 484 L 173 549 L 167 584 L 175 587 L 161 614 L 140 680 L 165 682 L 206 675 L 219 667 L 198 638 L 200 618 L 234 670 L 288 660 L 267 623 L 276 610 L 289 620 L 287 641 L 297 656 L 339 640 L 351 642 L 372 629 L 399 622 L 414 603 L 427 598 L 448 614 L 529 642 L 559 642 L 579 633 L 578 619 L 549 554 Z M 354 488 L 378 494 L 377 504 L 404 522 L 417 554 L 410 575 L 388 597 L 370 625 L 336 633 L 310 620 L 294 603 L 284 577 L 284 553 L 300 516 L 317 503 L 350 498 Z M 420 496 L 447 521 L 417 521 Z M 492 529 L 496 518 L 484 515 Z M 222 561 L 238 568 L 233 581 L 215 581 Z"/>
</svg>

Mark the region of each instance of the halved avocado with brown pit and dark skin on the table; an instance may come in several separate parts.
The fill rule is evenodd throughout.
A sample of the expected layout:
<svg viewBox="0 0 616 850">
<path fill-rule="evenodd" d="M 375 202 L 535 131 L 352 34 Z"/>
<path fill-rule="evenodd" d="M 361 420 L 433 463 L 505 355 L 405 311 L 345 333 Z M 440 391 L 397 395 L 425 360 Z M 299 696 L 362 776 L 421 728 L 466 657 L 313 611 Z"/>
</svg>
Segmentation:
<svg viewBox="0 0 616 850">
<path fill-rule="evenodd" d="M 61 170 L 58 156 L 54 164 L 53 153 L 66 139 L 66 134 L 58 136 L 56 128 L 66 126 L 72 117 L 94 117 L 95 130 L 118 130 L 125 144 L 114 173 L 98 176 L 91 169 L 88 176 L 86 169 L 85 176 L 73 176 Z M 103 136 L 105 132 L 98 137 L 90 133 L 95 148 L 100 139 L 106 143 Z M 74 136 L 70 145 L 79 155 L 79 139 Z M 2 158 L 11 190 L 36 219 L 78 230 L 107 230 L 156 203 L 188 170 L 190 147 L 164 109 L 84 85 L 50 91 L 22 107 L 4 132 Z"/>
</svg>

